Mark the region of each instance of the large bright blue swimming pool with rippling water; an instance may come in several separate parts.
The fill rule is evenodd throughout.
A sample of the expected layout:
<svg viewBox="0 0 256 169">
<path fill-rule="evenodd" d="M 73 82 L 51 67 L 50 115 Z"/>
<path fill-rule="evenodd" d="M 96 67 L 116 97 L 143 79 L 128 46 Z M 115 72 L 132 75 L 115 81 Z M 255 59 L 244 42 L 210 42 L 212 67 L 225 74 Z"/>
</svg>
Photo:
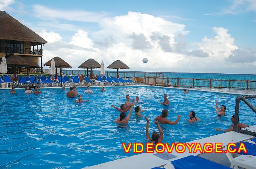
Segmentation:
<svg viewBox="0 0 256 169">
<path fill-rule="evenodd" d="M 82 93 L 85 88 L 77 90 Z M 229 128 L 236 98 L 233 94 L 192 90 L 184 94 L 179 89 L 153 86 L 106 87 L 106 92 L 100 92 L 99 87 L 92 90 L 94 94 L 82 94 L 90 102 L 78 104 L 74 103 L 77 98 L 67 98 L 67 91 L 61 88 L 42 89 L 43 93 L 38 95 L 24 94 L 24 90 L 16 90 L 17 94 L 0 90 L 0 168 L 82 168 L 134 155 L 124 153 L 122 142 L 146 142 L 146 121 L 134 117 L 133 110 L 128 126 L 121 128 L 112 122 L 120 113 L 110 107 L 124 103 L 126 94 L 131 98 L 140 96 L 145 102 L 140 106 L 145 110 L 142 115 L 151 115 L 150 135 L 158 131 L 153 121 L 163 109 L 168 109 L 171 121 L 182 115 L 176 125 L 161 125 L 163 142 L 169 143 L 222 133 L 214 128 Z M 159 104 L 165 93 L 170 106 Z M 216 116 L 215 99 L 219 106 L 227 106 L 225 117 Z M 246 109 L 250 111 L 244 106 Z M 187 122 L 191 110 L 201 122 Z"/>
</svg>

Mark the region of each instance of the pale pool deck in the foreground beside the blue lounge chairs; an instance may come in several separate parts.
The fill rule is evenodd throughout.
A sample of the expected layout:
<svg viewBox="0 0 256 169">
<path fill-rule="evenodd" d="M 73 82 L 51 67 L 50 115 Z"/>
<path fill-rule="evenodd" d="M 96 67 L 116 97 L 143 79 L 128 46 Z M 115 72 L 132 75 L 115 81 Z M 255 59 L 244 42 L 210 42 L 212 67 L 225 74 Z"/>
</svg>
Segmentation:
<svg viewBox="0 0 256 169">
<path fill-rule="evenodd" d="M 188 143 L 200 143 L 204 145 L 204 143 L 219 143 L 222 142 L 222 146 L 228 145 L 228 143 L 237 143 L 240 141 L 245 141 L 254 138 L 254 136 L 236 133 L 234 131 L 227 132 L 223 134 L 218 134 L 215 136 L 210 136 L 207 138 L 202 138 L 199 140 L 190 141 Z M 193 151 L 194 148 L 192 148 Z M 213 147 L 214 149 L 214 147 Z M 157 154 L 157 156 L 156 156 Z M 175 155 L 176 157 L 170 157 L 170 153 L 166 151 L 164 153 L 142 153 L 138 155 L 133 155 L 131 157 L 126 157 L 122 159 L 117 159 L 114 161 L 109 161 L 106 163 L 94 165 L 91 167 L 86 167 L 84 169 L 113 169 L 113 168 L 122 168 L 122 169 L 150 169 L 153 167 L 159 167 L 166 165 L 166 163 L 170 161 L 174 161 L 176 159 L 180 159 L 182 157 L 186 157 L 188 155 L 199 155 L 203 158 L 209 159 L 216 163 L 220 163 L 222 165 L 226 165 L 230 167 L 230 162 L 224 153 L 200 153 L 196 151 L 196 153 L 189 153 L 188 148 L 184 153 L 177 153 L 175 150 L 172 151 L 171 155 Z"/>
</svg>

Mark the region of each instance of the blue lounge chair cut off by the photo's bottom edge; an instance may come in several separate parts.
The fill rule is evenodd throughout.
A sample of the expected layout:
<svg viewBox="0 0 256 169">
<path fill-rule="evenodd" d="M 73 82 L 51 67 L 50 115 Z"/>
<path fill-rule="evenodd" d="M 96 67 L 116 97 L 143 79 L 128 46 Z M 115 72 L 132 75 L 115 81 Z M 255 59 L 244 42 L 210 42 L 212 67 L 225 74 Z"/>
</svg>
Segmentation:
<svg viewBox="0 0 256 169">
<path fill-rule="evenodd" d="M 230 169 L 224 165 L 215 163 L 208 159 L 190 155 L 171 162 L 173 169 Z M 162 167 L 154 167 L 152 169 L 163 169 Z"/>
</svg>

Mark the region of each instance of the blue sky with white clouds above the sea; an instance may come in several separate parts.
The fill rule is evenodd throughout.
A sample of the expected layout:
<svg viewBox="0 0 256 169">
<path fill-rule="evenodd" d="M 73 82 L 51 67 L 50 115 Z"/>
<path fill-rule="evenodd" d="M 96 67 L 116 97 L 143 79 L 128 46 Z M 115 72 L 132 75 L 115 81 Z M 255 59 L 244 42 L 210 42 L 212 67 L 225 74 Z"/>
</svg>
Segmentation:
<svg viewBox="0 0 256 169">
<path fill-rule="evenodd" d="M 256 0 L 0 0 L 0 10 L 48 41 L 43 63 L 256 74 Z"/>
</svg>

